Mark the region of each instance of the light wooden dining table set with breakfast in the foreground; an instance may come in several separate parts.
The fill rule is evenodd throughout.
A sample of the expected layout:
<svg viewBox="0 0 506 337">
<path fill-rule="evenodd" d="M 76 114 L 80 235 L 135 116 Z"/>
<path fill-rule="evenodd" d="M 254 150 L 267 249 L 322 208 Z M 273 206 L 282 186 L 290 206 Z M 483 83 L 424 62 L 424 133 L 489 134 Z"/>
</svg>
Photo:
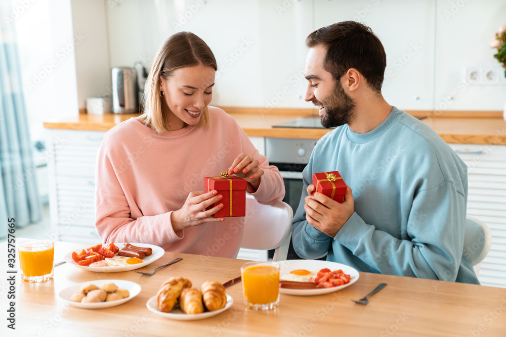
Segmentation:
<svg viewBox="0 0 506 337">
<path fill-rule="evenodd" d="M 89 245 L 56 242 L 55 262 Z M 271 311 L 245 309 L 242 283 L 226 288 L 234 303 L 210 318 L 177 321 L 151 312 L 147 301 L 171 276 L 189 278 L 193 287 L 206 280 L 225 282 L 240 276 L 245 260 L 165 252 L 140 270 L 151 270 L 177 257 L 183 260 L 158 269 L 153 276 L 134 271 L 97 273 L 69 263 L 55 267 L 54 278 L 40 283 L 20 280 L 19 264 L 8 268 L 8 245 L 0 244 L 2 336 L 506 336 L 506 289 L 403 276 L 360 273 L 339 291 L 318 296 L 280 294 Z M 16 269 L 17 268 L 17 269 Z M 8 281 L 14 277 L 14 289 Z M 58 296 L 71 285 L 104 279 L 136 282 L 141 292 L 132 300 L 105 309 L 76 308 Z M 379 283 L 388 285 L 369 304 L 355 304 Z M 8 296 L 14 294 L 14 299 Z M 15 330 L 8 328 L 8 306 L 14 302 Z"/>
</svg>

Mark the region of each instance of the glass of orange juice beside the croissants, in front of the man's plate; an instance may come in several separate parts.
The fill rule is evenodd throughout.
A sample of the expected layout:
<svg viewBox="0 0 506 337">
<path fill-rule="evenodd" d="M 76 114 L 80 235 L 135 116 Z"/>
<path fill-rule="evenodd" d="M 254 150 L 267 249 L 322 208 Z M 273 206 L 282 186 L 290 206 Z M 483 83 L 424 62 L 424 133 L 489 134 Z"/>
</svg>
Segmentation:
<svg viewBox="0 0 506 337">
<path fill-rule="evenodd" d="M 246 308 L 270 310 L 279 306 L 279 264 L 248 262 L 241 267 Z"/>
</svg>

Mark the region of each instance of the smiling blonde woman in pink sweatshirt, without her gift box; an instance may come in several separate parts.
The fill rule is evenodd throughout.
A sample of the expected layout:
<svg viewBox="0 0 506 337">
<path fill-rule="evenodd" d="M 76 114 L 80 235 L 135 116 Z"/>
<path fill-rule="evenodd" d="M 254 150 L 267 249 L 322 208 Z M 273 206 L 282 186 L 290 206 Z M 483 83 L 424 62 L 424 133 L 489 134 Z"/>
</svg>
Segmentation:
<svg viewBox="0 0 506 337">
<path fill-rule="evenodd" d="M 144 114 L 109 130 L 96 169 L 96 228 L 104 243 L 135 242 L 166 251 L 235 258 L 243 217 L 215 218 L 223 207 L 204 177 L 228 170 L 247 180 L 260 203 L 284 197 L 275 166 L 235 120 L 208 104 L 216 59 L 195 34 L 169 37 L 146 82 Z"/>
</svg>

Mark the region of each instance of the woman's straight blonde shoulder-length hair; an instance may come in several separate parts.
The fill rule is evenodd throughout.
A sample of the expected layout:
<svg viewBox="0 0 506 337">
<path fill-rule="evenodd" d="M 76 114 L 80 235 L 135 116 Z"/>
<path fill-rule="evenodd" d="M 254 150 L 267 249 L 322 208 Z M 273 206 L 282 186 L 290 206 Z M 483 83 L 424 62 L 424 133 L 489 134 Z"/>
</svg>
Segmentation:
<svg viewBox="0 0 506 337">
<path fill-rule="evenodd" d="M 144 115 L 141 121 L 159 133 L 168 132 L 168 107 L 160 97 L 160 83 L 179 68 L 202 65 L 218 70 L 215 56 L 209 46 L 190 32 L 176 33 L 163 42 L 156 53 L 153 66 L 144 87 Z M 202 111 L 197 126 L 209 125 L 209 109 Z"/>
</svg>

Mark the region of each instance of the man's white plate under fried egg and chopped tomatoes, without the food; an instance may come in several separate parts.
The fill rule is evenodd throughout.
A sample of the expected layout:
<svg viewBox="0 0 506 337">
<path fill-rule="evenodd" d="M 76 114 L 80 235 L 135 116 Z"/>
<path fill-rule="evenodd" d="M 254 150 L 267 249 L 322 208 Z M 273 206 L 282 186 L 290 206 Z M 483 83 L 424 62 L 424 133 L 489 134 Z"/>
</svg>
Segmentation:
<svg viewBox="0 0 506 337">
<path fill-rule="evenodd" d="M 280 276 L 288 274 L 290 271 L 296 269 L 310 270 L 310 269 L 328 268 L 332 271 L 342 269 L 345 274 L 348 274 L 351 277 L 350 282 L 340 286 L 334 286 L 331 288 L 316 288 L 316 289 L 279 288 L 279 293 L 285 295 L 313 296 L 313 295 L 323 295 L 333 293 L 355 283 L 359 277 L 358 271 L 355 268 L 336 262 L 322 261 L 322 260 L 287 260 L 287 261 L 278 261 L 278 263 L 280 265 L 279 270 Z"/>
</svg>

